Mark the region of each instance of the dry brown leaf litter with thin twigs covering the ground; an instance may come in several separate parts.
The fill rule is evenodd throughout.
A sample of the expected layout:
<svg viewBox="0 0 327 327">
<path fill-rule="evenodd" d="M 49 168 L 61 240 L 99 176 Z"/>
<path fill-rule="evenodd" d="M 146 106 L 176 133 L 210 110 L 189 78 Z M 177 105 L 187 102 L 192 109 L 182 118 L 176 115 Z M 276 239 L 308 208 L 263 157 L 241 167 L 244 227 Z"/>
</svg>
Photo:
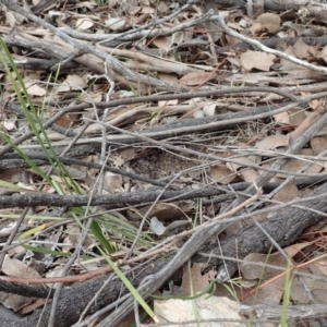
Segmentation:
<svg viewBox="0 0 327 327">
<path fill-rule="evenodd" d="M 311 4 L 303 9 L 300 4 L 296 7 L 296 1 L 289 11 L 281 7 L 274 12 L 268 9 L 264 12 L 264 8 L 253 11 L 240 4 L 227 8 L 219 1 L 205 2 L 203 5 L 201 1 L 111 0 L 68 1 L 57 5 L 51 1 L 34 1 L 29 5 L 33 16 L 28 17 L 26 11 L 0 1 L 3 13 L 0 32 L 37 114 L 43 122 L 57 117 L 47 130 L 47 138 L 57 155 L 62 153 L 63 146 L 96 142 L 100 147 L 73 153 L 72 157 L 148 178 L 145 182 L 118 171 L 105 172 L 72 165 L 66 167 L 71 178 L 68 182 L 58 171 L 49 172 L 51 165 L 35 159 L 40 170 L 48 171 L 53 181 L 52 185 L 39 191 L 38 186 L 44 182 L 40 171 L 16 158 L 11 159 L 16 160 L 13 166 L 8 166 L 3 158 L 0 160 L 3 162 L 0 162 L 1 180 L 9 184 L 0 185 L 1 194 L 25 194 L 24 189 L 28 189 L 40 194 L 77 195 L 73 183 L 78 184 L 81 194 L 90 197 L 157 192 L 157 186 L 152 183 L 155 180 L 171 183 L 175 190 L 185 192 L 227 185 L 229 193 L 239 196 L 231 184 L 255 183 L 274 169 L 274 162 L 286 156 L 303 131 L 325 113 L 325 22 L 318 20 L 318 15 L 315 17 L 315 8 Z M 322 7 L 320 11 L 324 10 Z M 226 27 L 214 19 L 215 15 L 223 19 Z M 227 33 L 228 28 L 241 37 Z M 255 39 L 262 46 L 251 47 L 249 39 Z M 274 51 L 267 51 L 265 46 Z M 31 131 L 31 126 L 10 75 L 17 81 L 16 73 L 9 73 L 2 62 L 1 133 L 19 140 Z M 231 87 L 233 92 L 229 93 Z M 252 90 L 243 92 L 244 87 L 252 87 Z M 226 92 L 217 95 L 218 89 Z M 284 94 L 276 94 L 276 89 Z M 23 89 L 20 92 L 25 96 Z M 177 94 L 189 96 L 178 98 Z M 131 101 L 138 97 L 140 101 Z M 298 99 L 304 97 L 307 100 L 298 104 Z M 111 101 L 118 101 L 118 105 L 109 107 Z M 254 109 L 256 111 L 251 112 Z M 282 110 L 277 112 L 278 109 Z M 262 116 L 270 111 L 271 114 Z M 220 125 L 214 125 L 219 121 Z M 264 195 L 271 198 L 270 203 L 263 204 L 271 208 L 271 214 L 261 216 L 261 220 L 274 215 L 275 204 L 288 205 L 288 202 L 305 196 L 307 190 L 302 190 L 295 183 L 296 179 L 325 177 L 325 134 L 322 129 L 296 155 L 286 156 L 288 164 L 281 171 L 275 171 L 270 181 L 281 185 L 288 180 L 288 184 L 275 194 Z M 4 140 L 2 147 L 7 144 Z M 35 137 L 22 141 L 20 148 L 29 156 L 41 153 Z M 17 183 L 19 189 L 15 187 Z M 310 185 L 314 189 L 315 182 Z M 72 190 L 75 191 L 72 193 Z M 136 256 L 166 238 L 179 239 L 180 233 L 192 227 L 201 228 L 203 222 L 223 213 L 228 205 L 216 197 L 203 201 L 206 203 L 171 199 L 154 206 L 147 203 L 135 207 L 122 205 L 109 216 L 104 214 L 106 206 L 90 211 L 85 207 L 61 211 L 51 204 L 33 205 L 19 232 L 27 231 L 28 234 L 35 229 L 37 232 L 31 233 L 34 240 L 27 243 L 34 247 L 20 245 L 8 251 L 2 272 L 16 278 L 35 278 L 35 274 L 37 277 L 73 276 L 85 271 L 92 258 L 95 262 L 87 266 L 89 269 L 104 267 L 106 263 L 96 247 L 101 244 L 97 235 L 89 232 L 83 239 L 85 227 L 81 228 L 76 220 L 73 225 L 73 219 L 87 217 L 90 213 L 96 213 L 99 233 L 108 238 L 110 249 L 114 249 L 113 257 L 116 254 L 117 258 L 123 257 L 131 249 Z M 15 206 L 1 209 L 2 246 L 16 223 L 16 219 L 11 218 L 17 218 L 22 211 L 23 208 Z M 258 217 L 255 209 L 253 215 Z M 47 223 L 51 226 L 57 218 L 65 223 L 51 232 Z M 108 219 L 112 221 L 108 223 Z M 244 221 L 253 223 L 251 219 Z M 234 222 L 232 228 L 226 229 L 223 238 L 241 228 L 242 223 Z M 122 230 L 124 232 L 120 233 Z M 141 242 L 133 247 L 137 230 L 142 234 Z M 21 240 L 20 233 L 15 241 Z M 303 280 L 300 282 L 296 276 L 290 292 L 293 303 L 326 303 L 324 283 L 318 282 L 326 275 L 324 246 L 322 222 L 310 242 L 298 240 L 283 249 L 292 269 L 310 275 L 305 277 L 305 283 L 312 298 L 304 292 Z M 68 258 L 63 254 L 70 255 L 76 249 L 81 258 L 65 272 L 63 266 L 68 265 Z M 246 256 L 240 264 L 239 283 L 228 296 L 232 301 L 237 296 L 238 301 L 249 304 L 253 303 L 255 293 L 261 304 L 269 305 L 272 301 L 282 305 L 288 262 L 283 254 L 253 253 Z M 183 281 L 184 288 L 197 284 L 205 288 L 208 283 L 208 276 L 199 274 L 196 265 L 195 279 Z M 269 267 L 265 268 L 265 265 Z M 215 271 L 210 270 L 210 275 Z M 218 288 L 215 296 L 222 294 L 226 292 L 219 292 Z M 22 298 L 4 292 L 0 299 L 3 306 L 25 314 L 32 303 L 32 298 L 24 302 Z M 210 301 L 220 303 L 221 299 Z M 175 305 L 172 303 L 172 307 Z M 211 317 L 210 305 L 207 304 L 202 319 Z M 233 307 L 235 318 L 242 319 L 238 306 L 233 305 L 227 312 Z M 31 311 L 34 308 L 32 306 Z M 223 315 L 219 305 L 213 308 L 216 310 L 219 317 L 220 314 L 226 319 L 231 317 Z M 175 319 L 179 318 L 186 319 L 178 315 Z"/>
</svg>

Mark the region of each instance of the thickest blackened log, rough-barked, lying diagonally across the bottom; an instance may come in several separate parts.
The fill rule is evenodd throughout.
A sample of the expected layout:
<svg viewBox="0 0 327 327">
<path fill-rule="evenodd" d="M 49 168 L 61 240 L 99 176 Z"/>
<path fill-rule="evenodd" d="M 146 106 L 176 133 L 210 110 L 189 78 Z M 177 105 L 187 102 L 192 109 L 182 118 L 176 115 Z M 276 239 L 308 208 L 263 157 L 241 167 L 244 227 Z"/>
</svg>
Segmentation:
<svg viewBox="0 0 327 327">
<path fill-rule="evenodd" d="M 310 199 L 301 201 L 301 203 L 311 209 L 319 210 L 322 213 L 327 213 L 327 183 L 319 186 L 316 191 L 310 193 Z M 305 228 L 313 226 L 317 223 L 324 215 L 317 215 L 313 211 L 307 211 L 305 208 L 293 208 L 288 207 L 283 209 L 282 211 L 278 213 L 278 215 L 269 219 L 267 221 L 264 221 L 262 226 L 265 228 L 266 231 L 269 232 L 270 237 L 275 239 L 275 241 L 278 242 L 280 246 L 287 246 L 291 244 L 302 232 Z M 217 222 L 210 223 L 206 227 L 206 231 L 208 230 L 217 230 Z M 219 225 L 218 225 L 219 226 Z M 267 253 L 270 250 L 271 243 L 267 240 L 266 235 L 262 233 L 261 229 L 258 229 L 256 226 L 243 229 L 238 233 L 237 235 L 228 239 L 227 241 L 221 243 L 221 252 L 215 246 L 204 246 L 199 247 L 198 243 L 197 245 L 194 244 L 194 242 L 198 242 L 198 235 L 191 238 L 187 241 L 187 246 L 191 246 L 195 251 L 206 252 L 208 254 L 223 254 L 227 256 L 235 257 L 238 254 L 239 258 L 243 258 L 249 253 L 253 252 L 261 252 L 261 253 Z M 208 234 L 202 231 L 202 238 L 204 242 L 208 239 Z M 194 246 L 194 247 L 193 247 Z M 195 262 L 207 262 L 207 258 L 204 258 L 201 255 L 196 255 L 193 258 Z M 143 271 L 145 275 L 137 276 L 137 278 L 133 278 L 131 275 L 129 275 L 129 278 L 131 278 L 131 281 L 137 286 L 141 280 L 150 274 L 156 274 L 155 276 L 160 277 L 160 283 L 157 280 L 156 282 L 153 280 L 152 284 L 152 291 L 157 289 L 160 284 L 164 283 L 165 280 L 170 278 L 170 276 L 174 275 L 174 271 L 178 270 L 180 265 L 177 265 L 174 267 L 170 267 L 169 274 L 166 276 L 162 276 L 162 271 L 165 272 L 169 263 L 171 262 L 171 257 L 167 258 L 160 258 L 152 264 L 148 265 L 148 269 L 144 269 Z M 218 266 L 218 268 L 223 266 L 222 261 L 217 259 L 215 257 L 211 257 L 210 264 L 213 266 Z M 227 266 L 229 268 L 229 274 L 233 274 L 237 269 L 237 264 L 234 263 L 227 263 Z M 167 272 L 167 271 L 166 271 Z M 166 274 L 165 272 L 165 274 Z M 174 279 L 179 280 L 181 279 L 181 275 L 177 274 L 174 275 Z M 93 298 L 93 295 L 96 293 L 96 291 L 104 284 L 104 281 L 107 279 L 106 276 L 102 276 L 98 279 L 87 281 L 80 286 L 76 289 L 65 290 L 59 302 L 59 310 L 58 310 L 58 320 L 57 326 L 58 327 L 66 327 L 76 322 L 78 318 L 78 314 L 83 311 L 84 306 L 88 304 L 88 301 Z M 0 289 L 2 288 L 3 281 L 0 281 Z M 147 284 L 148 286 L 148 284 Z M 5 289 L 8 289 L 8 284 L 5 286 Z M 99 296 L 98 301 L 95 305 L 92 306 L 90 312 L 96 312 L 100 307 L 104 307 L 105 305 L 111 304 L 121 296 L 121 289 L 122 284 L 119 280 L 114 279 L 112 280 L 102 291 L 101 296 Z M 129 302 L 130 303 L 130 302 Z M 124 311 L 128 312 L 132 306 L 124 306 Z M 46 308 L 46 314 L 43 317 L 43 323 L 39 326 L 47 326 L 47 318 L 48 318 L 48 312 L 49 308 Z M 25 326 L 36 326 L 36 322 L 39 317 L 39 311 L 34 312 L 31 316 L 25 318 L 19 318 L 15 315 L 13 315 L 8 310 L 4 310 L 1 307 L 0 311 L 3 326 L 8 327 L 25 327 Z"/>
</svg>

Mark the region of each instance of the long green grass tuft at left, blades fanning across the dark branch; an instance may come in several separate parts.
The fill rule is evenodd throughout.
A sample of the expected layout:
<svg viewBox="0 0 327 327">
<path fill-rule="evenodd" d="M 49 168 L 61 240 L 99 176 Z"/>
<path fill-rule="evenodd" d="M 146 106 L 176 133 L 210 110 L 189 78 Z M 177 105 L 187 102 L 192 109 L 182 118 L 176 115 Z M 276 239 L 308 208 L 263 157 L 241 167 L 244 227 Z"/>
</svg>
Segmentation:
<svg viewBox="0 0 327 327">
<path fill-rule="evenodd" d="M 106 2 L 106 1 L 104 1 Z M 14 60 L 7 48 L 5 43 L 0 37 L 0 60 L 3 63 L 4 70 L 12 83 L 12 87 L 15 92 L 16 98 L 23 109 L 24 116 L 28 122 L 28 125 L 31 130 L 33 131 L 37 143 L 39 144 L 44 155 L 47 157 L 49 164 L 55 169 L 56 173 L 60 177 L 62 183 L 58 183 L 56 180 L 53 180 L 50 175 L 45 173 L 29 157 L 24 153 L 20 146 L 16 146 L 14 143 L 14 140 L 11 137 L 9 133 L 5 131 L 0 131 L 0 137 L 5 140 L 8 144 L 12 146 L 12 148 L 28 164 L 28 166 L 33 169 L 34 173 L 37 174 L 39 178 L 43 179 L 43 182 L 48 184 L 49 187 L 52 187 L 56 190 L 56 192 L 62 196 L 66 194 L 75 194 L 75 195 L 83 195 L 84 191 L 83 189 L 75 182 L 75 180 L 72 178 L 72 175 L 69 173 L 69 171 L 65 169 L 64 165 L 59 160 L 58 155 L 51 144 L 51 141 L 48 137 L 47 130 L 44 129 L 41 120 L 40 120 L 40 113 L 46 112 L 46 110 L 37 109 L 35 108 L 33 100 L 26 89 L 26 86 L 24 84 L 24 81 L 20 74 L 19 69 L 16 68 Z M 58 78 L 58 72 L 55 76 L 55 78 Z M 7 185 L 8 187 L 15 189 L 13 186 L 14 184 Z M 14 191 L 14 190 L 13 190 Z M 19 192 L 19 189 L 16 189 Z M 25 192 L 25 191 L 24 191 Z M 37 191 L 41 192 L 41 190 Z M 77 223 L 81 229 L 84 229 L 84 225 L 81 221 L 81 218 L 85 218 L 88 215 L 92 215 L 93 207 L 73 207 L 70 208 L 68 211 L 69 217 L 71 217 L 75 223 Z M 122 238 L 124 240 L 129 240 L 130 242 L 133 242 L 137 229 L 131 225 L 128 221 L 122 221 L 122 219 L 117 218 L 114 215 L 105 215 L 99 214 L 99 218 L 94 219 L 90 230 L 93 237 L 96 239 L 96 244 L 98 246 L 101 246 L 101 249 L 109 254 L 114 253 L 118 250 L 117 243 L 111 242 L 110 238 L 114 232 L 120 232 Z M 43 218 L 40 218 L 43 219 Z M 48 219 L 48 218 L 47 218 Z M 53 219 L 53 217 L 52 217 Z M 43 225 L 40 229 L 32 228 L 27 232 L 25 232 L 21 240 L 26 239 L 27 237 L 31 237 L 35 233 L 38 233 L 40 231 L 44 231 L 45 228 L 48 225 Z M 107 232 L 104 232 L 104 227 L 107 230 Z M 153 242 L 153 240 L 146 235 L 145 233 L 142 233 L 140 237 L 140 245 L 148 247 L 149 244 Z M 35 252 L 44 252 L 48 251 L 45 249 L 31 246 L 31 245 L 24 245 L 25 249 L 35 251 Z M 48 252 L 50 253 L 50 252 Z M 66 256 L 66 253 L 63 252 L 55 252 L 51 254 Z"/>
</svg>

